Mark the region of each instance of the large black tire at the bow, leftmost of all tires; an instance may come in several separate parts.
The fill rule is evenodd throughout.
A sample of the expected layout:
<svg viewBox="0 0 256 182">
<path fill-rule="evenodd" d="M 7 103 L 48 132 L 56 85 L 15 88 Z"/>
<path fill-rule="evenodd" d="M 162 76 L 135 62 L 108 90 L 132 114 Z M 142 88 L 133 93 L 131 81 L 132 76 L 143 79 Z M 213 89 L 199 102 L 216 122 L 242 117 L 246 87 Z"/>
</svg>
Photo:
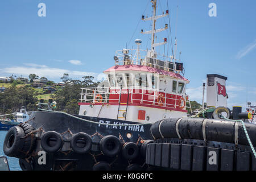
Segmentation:
<svg viewBox="0 0 256 182">
<path fill-rule="evenodd" d="M 3 142 L 3 152 L 5 155 L 15 158 L 23 157 L 20 152 L 24 144 L 24 130 L 19 126 L 14 126 L 9 129 Z"/>
</svg>

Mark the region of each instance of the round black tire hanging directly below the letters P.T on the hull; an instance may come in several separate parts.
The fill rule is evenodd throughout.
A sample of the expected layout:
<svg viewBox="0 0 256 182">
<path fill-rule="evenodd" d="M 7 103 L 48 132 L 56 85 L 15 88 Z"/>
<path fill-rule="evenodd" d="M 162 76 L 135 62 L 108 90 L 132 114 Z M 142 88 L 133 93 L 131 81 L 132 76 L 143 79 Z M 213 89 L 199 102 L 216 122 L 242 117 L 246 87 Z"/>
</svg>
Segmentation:
<svg viewBox="0 0 256 182">
<path fill-rule="evenodd" d="M 114 144 L 113 149 L 108 148 L 110 143 Z M 104 155 L 113 157 L 117 155 L 121 150 L 121 142 L 117 137 L 113 135 L 107 135 L 103 137 L 100 141 L 100 150 Z"/>
</svg>

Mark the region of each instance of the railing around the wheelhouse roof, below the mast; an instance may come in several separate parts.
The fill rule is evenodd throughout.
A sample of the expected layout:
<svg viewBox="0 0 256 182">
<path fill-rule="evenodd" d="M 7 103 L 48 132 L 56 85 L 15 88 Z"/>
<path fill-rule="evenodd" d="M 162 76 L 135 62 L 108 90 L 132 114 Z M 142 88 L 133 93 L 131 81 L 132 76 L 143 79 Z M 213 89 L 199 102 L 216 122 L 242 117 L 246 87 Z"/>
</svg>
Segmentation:
<svg viewBox="0 0 256 182">
<path fill-rule="evenodd" d="M 115 51 L 115 65 L 147 65 L 152 68 L 163 69 L 170 72 L 183 71 L 177 67 L 180 60 L 173 59 L 172 56 L 154 53 L 154 56 L 147 55 L 148 50 L 142 49 L 123 49 Z M 178 63 L 180 64 L 180 63 Z"/>
</svg>

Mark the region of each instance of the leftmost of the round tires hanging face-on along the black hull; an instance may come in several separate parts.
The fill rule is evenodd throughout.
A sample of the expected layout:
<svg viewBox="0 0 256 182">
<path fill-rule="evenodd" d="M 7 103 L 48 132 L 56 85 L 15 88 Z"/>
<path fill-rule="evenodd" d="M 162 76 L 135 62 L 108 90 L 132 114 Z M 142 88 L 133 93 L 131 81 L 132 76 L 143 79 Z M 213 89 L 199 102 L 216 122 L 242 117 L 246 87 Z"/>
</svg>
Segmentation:
<svg viewBox="0 0 256 182">
<path fill-rule="evenodd" d="M 56 138 L 55 146 L 49 146 L 47 144 L 47 141 L 49 138 Z M 57 152 L 63 146 L 63 138 L 56 131 L 47 131 L 41 137 L 41 146 L 42 146 L 43 150 L 46 152 L 51 152 L 51 153 Z"/>
</svg>

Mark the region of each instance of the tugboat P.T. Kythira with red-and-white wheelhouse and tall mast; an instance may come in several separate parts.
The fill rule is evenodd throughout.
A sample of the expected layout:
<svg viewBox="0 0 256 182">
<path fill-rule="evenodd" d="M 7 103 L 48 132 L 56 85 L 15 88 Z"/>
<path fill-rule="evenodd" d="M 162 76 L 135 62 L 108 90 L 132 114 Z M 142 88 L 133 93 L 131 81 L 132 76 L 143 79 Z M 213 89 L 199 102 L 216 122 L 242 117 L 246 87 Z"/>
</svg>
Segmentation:
<svg viewBox="0 0 256 182">
<path fill-rule="evenodd" d="M 152 123 L 164 118 L 187 117 L 188 79 L 181 76 L 183 63 L 174 56 L 159 55 L 155 34 L 156 0 L 151 1 L 151 49 L 116 51 L 114 66 L 104 71 L 107 80 L 97 88 L 81 88 L 79 115 L 50 111 L 39 103 L 26 123 L 6 134 L 4 152 L 19 158 L 23 170 L 134 170 L 145 169 L 142 154 L 150 139 Z M 47 109 L 43 109 L 47 107 Z M 144 144 L 144 145 L 143 145 Z"/>
</svg>

